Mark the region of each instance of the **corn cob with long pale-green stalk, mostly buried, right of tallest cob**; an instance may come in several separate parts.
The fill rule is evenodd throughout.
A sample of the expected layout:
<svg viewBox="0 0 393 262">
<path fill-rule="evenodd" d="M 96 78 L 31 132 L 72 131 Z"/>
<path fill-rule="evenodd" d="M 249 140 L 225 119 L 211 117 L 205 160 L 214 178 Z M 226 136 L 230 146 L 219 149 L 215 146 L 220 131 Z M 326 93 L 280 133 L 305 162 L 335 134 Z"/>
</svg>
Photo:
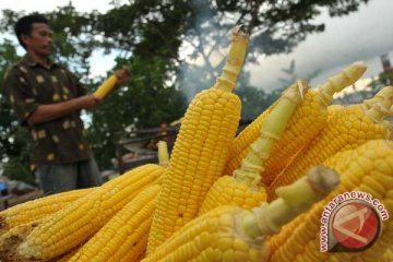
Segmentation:
<svg viewBox="0 0 393 262">
<path fill-rule="evenodd" d="M 265 189 L 259 186 L 260 171 L 308 88 L 306 82 L 298 81 L 283 94 L 263 121 L 260 138 L 251 144 L 240 168 L 234 171 L 234 176 L 221 177 L 209 190 L 200 215 L 219 205 L 234 204 L 251 209 L 266 201 Z"/>
</svg>

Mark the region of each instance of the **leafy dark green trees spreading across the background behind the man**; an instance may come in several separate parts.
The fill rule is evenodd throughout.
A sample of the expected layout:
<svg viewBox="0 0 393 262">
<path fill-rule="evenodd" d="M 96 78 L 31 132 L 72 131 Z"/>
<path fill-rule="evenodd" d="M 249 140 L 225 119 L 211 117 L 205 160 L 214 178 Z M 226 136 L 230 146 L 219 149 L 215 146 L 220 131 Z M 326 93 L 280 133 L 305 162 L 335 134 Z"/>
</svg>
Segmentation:
<svg viewBox="0 0 393 262">
<path fill-rule="evenodd" d="M 55 60 L 70 67 L 88 90 L 104 79 L 90 78 L 88 58 L 93 50 L 117 53 L 119 66 L 129 64 L 134 70 L 128 88 L 90 112 L 90 138 L 99 152 L 100 167 L 108 167 L 115 154 L 116 132 L 124 127 L 157 127 L 178 119 L 186 109 L 183 97 L 190 99 L 212 85 L 224 64 L 229 32 L 235 24 L 242 23 L 250 32 L 248 62 L 255 62 L 258 56 L 289 52 L 307 35 L 322 32 L 323 24 L 314 19 L 323 9 L 332 16 L 345 15 L 366 2 L 136 0 L 128 4 L 114 1 L 106 13 L 80 13 L 70 3 L 46 15 L 56 33 Z M 11 33 L 21 15 L 4 11 L 0 32 Z M 189 50 L 187 58 L 180 56 L 184 48 Z M 259 106 L 269 106 L 278 93 L 252 90 L 247 78 L 245 74 L 239 80 L 237 91 L 245 96 L 245 104 L 251 103 L 243 108 L 249 110 L 245 116 L 252 118 Z M 10 109 L 2 110 L 8 115 L 4 118 L 12 118 Z M 9 122 L 1 122 L 1 131 L 12 140 L 15 131 L 8 126 Z M 5 147 L 4 154 L 12 155 L 11 146 Z"/>
</svg>

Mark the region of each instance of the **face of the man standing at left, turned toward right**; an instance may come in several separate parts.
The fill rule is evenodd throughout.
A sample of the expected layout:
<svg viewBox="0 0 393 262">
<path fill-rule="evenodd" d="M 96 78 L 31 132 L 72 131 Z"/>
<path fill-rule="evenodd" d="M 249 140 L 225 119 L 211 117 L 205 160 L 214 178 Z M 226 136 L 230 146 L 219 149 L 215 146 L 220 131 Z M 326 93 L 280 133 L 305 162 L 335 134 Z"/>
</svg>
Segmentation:
<svg viewBox="0 0 393 262">
<path fill-rule="evenodd" d="M 52 32 L 47 24 L 34 23 L 29 35 L 22 35 L 28 51 L 48 57 L 52 52 Z"/>
</svg>

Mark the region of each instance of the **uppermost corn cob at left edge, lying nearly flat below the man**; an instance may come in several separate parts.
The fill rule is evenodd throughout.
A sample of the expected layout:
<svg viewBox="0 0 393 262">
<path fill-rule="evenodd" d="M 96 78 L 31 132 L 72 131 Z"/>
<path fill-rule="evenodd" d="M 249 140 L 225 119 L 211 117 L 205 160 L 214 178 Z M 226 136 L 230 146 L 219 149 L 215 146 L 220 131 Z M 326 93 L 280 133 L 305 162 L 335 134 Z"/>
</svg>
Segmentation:
<svg viewBox="0 0 393 262">
<path fill-rule="evenodd" d="M 92 192 L 94 188 L 78 189 L 32 200 L 0 212 L 0 235 L 10 228 L 40 219 Z"/>
</svg>

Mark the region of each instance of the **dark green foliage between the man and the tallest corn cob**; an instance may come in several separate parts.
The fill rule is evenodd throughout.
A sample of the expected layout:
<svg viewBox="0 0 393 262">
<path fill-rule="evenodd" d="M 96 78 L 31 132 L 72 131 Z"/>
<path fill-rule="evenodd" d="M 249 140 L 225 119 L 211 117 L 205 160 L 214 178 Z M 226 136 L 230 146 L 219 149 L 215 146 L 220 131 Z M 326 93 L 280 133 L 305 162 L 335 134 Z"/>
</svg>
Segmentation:
<svg viewBox="0 0 393 262">
<path fill-rule="evenodd" d="M 134 76 L 93 111 L 88 129 L 98 163 L 106 168 L 114 157 L 115 141 L 127 135 L 126 129 L 156 128 L 179 119 L 186 110 L 184 99 L 166 74 L 162 59 L 134 56 L 129 63 L 119 62 L 129 64 Z"/>
</svg>

